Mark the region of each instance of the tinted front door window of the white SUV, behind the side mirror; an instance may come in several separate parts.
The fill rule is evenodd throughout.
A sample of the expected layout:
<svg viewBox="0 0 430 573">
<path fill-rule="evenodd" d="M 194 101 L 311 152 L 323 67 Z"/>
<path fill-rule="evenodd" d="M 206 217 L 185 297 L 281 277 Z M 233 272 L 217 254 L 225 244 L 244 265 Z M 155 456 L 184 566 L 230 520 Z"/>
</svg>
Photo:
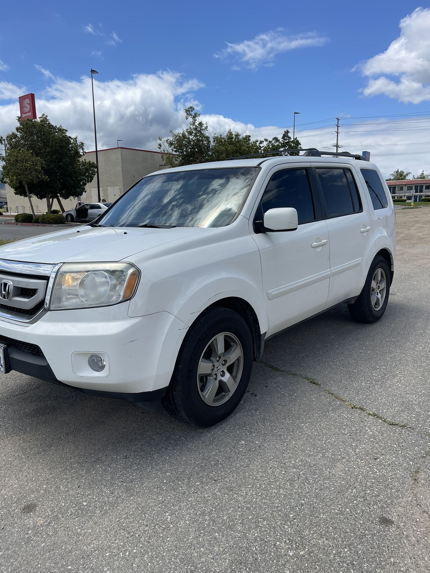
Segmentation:
<svg viewBox="0 0 430 573">
<path fill-rule="evenodd" d="M 313 221 L 314 203 L 306 170 L 290 169 L 275 173 L 264 191 L 261 205 L 263 213 L 276 207 L 294 207 L 299 223 Z"/>
</svg>

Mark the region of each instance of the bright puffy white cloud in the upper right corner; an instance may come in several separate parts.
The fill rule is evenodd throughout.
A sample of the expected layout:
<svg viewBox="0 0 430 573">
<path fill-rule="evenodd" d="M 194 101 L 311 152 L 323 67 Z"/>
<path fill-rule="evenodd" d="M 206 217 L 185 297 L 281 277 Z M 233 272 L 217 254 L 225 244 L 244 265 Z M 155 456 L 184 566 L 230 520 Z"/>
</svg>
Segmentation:
<svg viewBox="0 0 430 573">
<path fill-rule="evenodd" d="M 417 8 L 399 26 L 400 36 L 385 52 L 356 66 L 369 78 L 361 91 L 402 103 L 430 100 L 430 8 Z"/>
</svg>

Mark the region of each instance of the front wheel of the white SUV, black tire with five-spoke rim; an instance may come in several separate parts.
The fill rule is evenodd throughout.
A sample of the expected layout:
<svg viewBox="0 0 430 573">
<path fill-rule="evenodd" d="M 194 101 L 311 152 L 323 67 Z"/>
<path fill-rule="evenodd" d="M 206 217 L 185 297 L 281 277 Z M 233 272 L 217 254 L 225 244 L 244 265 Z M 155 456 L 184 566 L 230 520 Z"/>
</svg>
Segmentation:
<svg viewBox="0 0 430 573">
<path fill-rule="evenodd" d="M 187 332 L 163 405 L 182 422 L 214 426 L 239 405 L 252 362 L 244 319 L 228 308 L 210 308 Z"/>
</svg>

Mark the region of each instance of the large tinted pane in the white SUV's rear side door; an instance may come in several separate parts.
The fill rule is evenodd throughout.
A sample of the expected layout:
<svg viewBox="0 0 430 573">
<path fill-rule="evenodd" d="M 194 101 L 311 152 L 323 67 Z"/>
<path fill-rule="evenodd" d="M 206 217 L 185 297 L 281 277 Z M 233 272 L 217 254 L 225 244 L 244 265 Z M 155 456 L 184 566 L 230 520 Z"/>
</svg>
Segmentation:
<svg viewBox="0 0 430 573">
<path fill-rule="evenodd" d="M 354 213 L 353 199 L 343 169 L 319 168 L 316 173 L 326 201 L 327 217 Z"/>
</svg>

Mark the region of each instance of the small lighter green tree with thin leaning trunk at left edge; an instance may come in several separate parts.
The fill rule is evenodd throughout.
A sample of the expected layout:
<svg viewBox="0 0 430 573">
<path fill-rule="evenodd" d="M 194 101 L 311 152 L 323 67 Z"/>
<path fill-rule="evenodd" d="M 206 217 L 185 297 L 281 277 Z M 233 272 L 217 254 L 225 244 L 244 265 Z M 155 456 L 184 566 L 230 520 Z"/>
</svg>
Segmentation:
<svg viewBox="0 0 430 573">
<path fill-rule="evenodd" d="M 19 148 L 8 150 L 7 161 L 4 157 L 0 157 L 0 159 L 5 161 L 2 171 L 2 182 L 10 185 L 12 189 L 16 189 L 20 185 L 24 186 L 32 215 L 36 217 L 28 186 L 46 180 L 44 163 L 32 151 Z"/>
</svg>

